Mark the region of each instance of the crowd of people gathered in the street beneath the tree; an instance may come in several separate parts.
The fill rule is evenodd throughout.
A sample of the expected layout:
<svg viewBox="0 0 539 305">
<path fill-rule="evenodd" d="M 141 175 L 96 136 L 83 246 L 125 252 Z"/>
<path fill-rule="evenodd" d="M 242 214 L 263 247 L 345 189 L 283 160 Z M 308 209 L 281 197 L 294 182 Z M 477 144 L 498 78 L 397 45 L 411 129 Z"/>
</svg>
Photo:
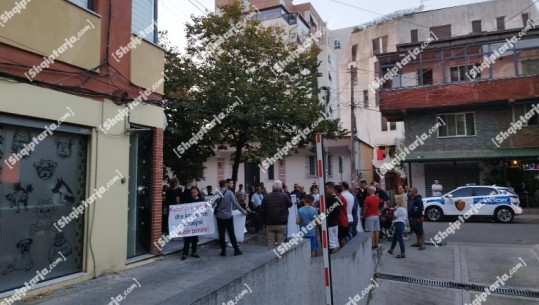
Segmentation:
<svg viewBox="0 0 539 305">
<path fill-rule="evenodd" d="M 436 181 L 437 184 L 437 181 Z M 434 186 L 433 189 L 441 191 L 441 186 Z M 380 184 L 361 180 L 359 187 L 350 190 L 350 185 L 346 182 L 338 184 L 327 182 L 324 185 L 326 195 L 326 215 L 328 226 L 328 244 L 330 253 L 338 252 L 346 245 L 358 232 L 370 232 L 372 234 L 372 249 L 378 249 L 380 231 L 388 226 L 393 229 L 391 247 L 388 253 L 393 254 L 397 243 L 400 253 L 397 258 L 405 258 L 406 250 L 404 240 L 409 234 L 416 235 L 416 243 L 412 247 L 419 250 L 425 249 L 425 239 L 423 230 L 423 201 L 416 188 L 411 188 L 408 192 L 404 186 L 396 189 L 392 200 L 388 193 L 384 191 Z M 200 191 L 197 186 L 185 188 L 182 192 L 178 181 L 173 179 L 164 192 L 164 213 L 168 211 L 168 206 L 181 203 L 192 203 L 204 201 L 205 196 L 217 196 L 214 209 L 217 218 L 217 229 L 219 232 L 219 244 L 221 256 L 226 256 L 226 246 L 229 243 L 234 248 L 234 255 L 241 255 L 234 234 L 234 222 L 232 210 L 236 209 L 247 216 L 246 226 L 252 227 L 254 234 L 258 234 L 263 229 L 267 237 L 268 249 L 278 247 L 287 239 L 289 208 L 296 204 L 297 217 L 296 224 L 300 228 L 307 228 L 320 216 L 320 189 L 315 182 L 309 189 L 309 194 L 305 188 L 299 184 L 294 184 L 292 192 L 288 191 L 286 184 L 280 180 L 275 180 L 271 191 L 267 191 L 264 183 L 256 187 L 249 187 L 246 191 L 240 184 L 238 190 L 234 192 L 234 181 L 226 179 L 219 181 L 219 189 L 213 191 L 212 186 L 207 186 Z M 166 215 L 165 215 L 166 216 Z M 166 219 L 163 217 L 163 230 L 167 231 Z M 308 239 L 311 245 L 311 256 L 317 256 L 318 240 L 321 228 L 304 230 L 304 239 Z M 225 231 L 228 232 L 229 240 L 225 240 Z M 184 238 L 184 248 L 182 260 L 186 259 L 191 248 L 191 256 L 198 258 L 197 254 L 198 237 Z"/>
</svg>

